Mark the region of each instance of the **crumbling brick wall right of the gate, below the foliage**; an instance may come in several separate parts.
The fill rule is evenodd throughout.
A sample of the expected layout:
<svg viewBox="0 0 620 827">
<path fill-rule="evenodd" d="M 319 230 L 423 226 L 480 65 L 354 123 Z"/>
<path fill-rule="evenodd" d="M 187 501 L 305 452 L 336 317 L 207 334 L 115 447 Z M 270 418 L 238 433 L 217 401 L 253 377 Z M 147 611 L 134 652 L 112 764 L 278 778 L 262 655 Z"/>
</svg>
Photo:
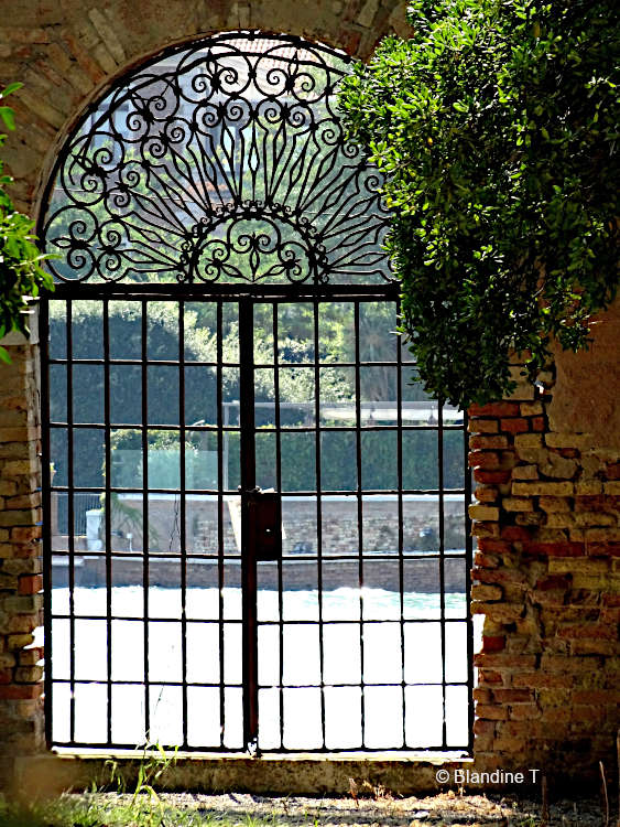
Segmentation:
<svg viewBox="0 0 620 827">
<path fill-rule="evenodd" d="M 585 354 L 471 409 L 477 761 L 616 773 L 620 724 L 620 303 Z M 614 358 L 610 351 L 614 350 Z M 598 405 L 598 398 L 605 404 Z"/>
</svg>

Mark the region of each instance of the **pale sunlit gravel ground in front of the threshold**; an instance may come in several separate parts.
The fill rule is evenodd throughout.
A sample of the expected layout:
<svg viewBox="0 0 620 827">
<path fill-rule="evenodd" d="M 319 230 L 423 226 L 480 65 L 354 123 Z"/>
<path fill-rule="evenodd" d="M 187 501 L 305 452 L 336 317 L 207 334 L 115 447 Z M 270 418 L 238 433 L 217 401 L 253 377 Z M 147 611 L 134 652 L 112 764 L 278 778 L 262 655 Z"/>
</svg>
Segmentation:
<svg viewBox="0 0 620 827">
<path fill-rule="evenodd" d="M 104 794 L 105 795 L 105 794 Z M 118 799 L 118 794 L 115 795 Z M 601 802 L 597 798 L 563 799 L 550 806 L 550 819 L 543 823 L 540 802 L 515 797 L 458 795 L 454 791 L 423 798 L 304 798 L 263 797 L 249 794 L 200 795 L 161 794 L 164 806 L 192 808 L 207 821 L 227 818 L 248 825 L 248 819 L 269 820 L 273 827 L 605 827 Z M 612 805 L 613 806 L 613 805 Z M 609 827 L 616 824 L 612 817 Z"/>
</svg>

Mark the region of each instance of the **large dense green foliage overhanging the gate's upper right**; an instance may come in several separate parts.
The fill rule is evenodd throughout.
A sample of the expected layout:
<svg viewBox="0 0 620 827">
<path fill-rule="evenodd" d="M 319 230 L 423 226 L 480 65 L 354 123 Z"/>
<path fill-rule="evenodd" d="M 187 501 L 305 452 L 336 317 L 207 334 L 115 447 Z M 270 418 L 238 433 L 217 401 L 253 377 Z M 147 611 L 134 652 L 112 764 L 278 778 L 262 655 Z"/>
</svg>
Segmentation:
<svg viewBox="0 0 620 827">
<path fill-rule="evenodd" d="M 587 346 L 618 286 L 611 0 L 413 0 L 346 78 L 350 137 L 389 175 L 402 332 L 426 389 L 467 407 Z"/>
</svg>

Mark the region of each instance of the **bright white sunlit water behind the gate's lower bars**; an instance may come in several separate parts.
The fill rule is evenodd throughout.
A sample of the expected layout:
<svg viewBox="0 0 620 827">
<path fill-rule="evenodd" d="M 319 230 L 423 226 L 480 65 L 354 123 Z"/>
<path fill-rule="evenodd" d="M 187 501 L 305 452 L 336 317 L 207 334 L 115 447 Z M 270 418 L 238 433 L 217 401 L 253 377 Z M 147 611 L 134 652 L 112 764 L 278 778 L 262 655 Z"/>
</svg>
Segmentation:
<svg viewBox="0 0 620 827">
<path fill-rule="evenodd" d="M 182 593 L 180 589 L 148 590 L 149 644 L 144 649 L 145 595 L 138 586 L 111 592 L 111 735 L 117 744 L 183 741 L 183 694 L 166 683 L 183 679 Z M 75 740 L 94 747 L 107 740 L 108 624 L 107 590 L 76 588 Z M 241 590 L 221 592 L 224 647 L 224 720 L 218 686 L 188 686 L 189 747 L 242 748 Z M 55 615 L 68 614 L 69 590 L 52 591 Z M 189 684 L 219 684 L 218 589 L 187 589 L 186 678 Z M 319 604 L 316 590 L 282 595 L 282 665 L 280 605 L 276 591 L 258 592 L 259 690 L 261 749 L 333 750 L 424 749 L 440 747 L 442 691 L 440 603 L 435 593 L 404 594 L 401 631 L 400 595 L 382 589 L 340 588 L 323 593 L 323 678 L 320 684 Z M 88 615 L 88 619 L 80 617 Z M 360 617 L 361 635 L 360 635 Z M 445 595 L 445 717 L 448 749 L 468 741 L 466 595 Z M 292 623 L 292 621 L 295 621 Z M 360 645 L 361 640 L 361 645 Z M 53 621 L 53 678 L 70 677 L 69 620 Z M 145 721 L 149 675 L 150 727 Z M 283 720 L 281 724 L 280 673 Z M 365 688 L 360 690 L 363 674 Z M 402 681 L 405 686 L 403 688 Z M 128 681 L 128 683 L 123 683 Z M 135 681 L 135 683 L 130 683 Z M 387 686 L 398 684 L 398 686 Z M 287 688 L 289 687 L 289 688 Z M 325 731 L 322 724 L 325 710 Z M 70 684 L 54 684 L 53 738 L 70 738 Z M 363 727 L 362 727 L 363 720 Z M 282 741 L 281 741 L 282 734 Z"/>
</svg>

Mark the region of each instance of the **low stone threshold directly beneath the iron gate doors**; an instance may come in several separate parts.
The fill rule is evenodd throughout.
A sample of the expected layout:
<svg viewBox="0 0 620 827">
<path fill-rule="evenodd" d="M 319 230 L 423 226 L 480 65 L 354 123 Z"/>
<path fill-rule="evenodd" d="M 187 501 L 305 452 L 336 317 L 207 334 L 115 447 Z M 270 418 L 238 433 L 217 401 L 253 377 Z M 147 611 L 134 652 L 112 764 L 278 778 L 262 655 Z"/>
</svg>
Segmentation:
<svg viewBox="0 0 620 827">
<path fill-rule="evenodd" d="M 157 753 L 154 753 L 156 758 Z M 171 759 L 174 752 L 165 753 Z M 127 790 L 135 787 L 142 750 L 57 750 L 42 755 L 14 759 L 14 782 L 21 788 L 36 788 L 43 795 L 78 792 L 110 785 L 112 764 L 122 772 Z M 453 785 L 437 782 L 439 769 L 472 767 L 471 758 L 459 753 L 350 752 L 247 753 L 177 752 L 157 782 L 166 792 L 227 793 L 257 795 L 372 795 L 383 790 L 404 796 L 436 793 Z M 452 773 L 450 773 L 452 775 Z M 116 788 L 116 785 L 112 785 Z"/>
</svg>

